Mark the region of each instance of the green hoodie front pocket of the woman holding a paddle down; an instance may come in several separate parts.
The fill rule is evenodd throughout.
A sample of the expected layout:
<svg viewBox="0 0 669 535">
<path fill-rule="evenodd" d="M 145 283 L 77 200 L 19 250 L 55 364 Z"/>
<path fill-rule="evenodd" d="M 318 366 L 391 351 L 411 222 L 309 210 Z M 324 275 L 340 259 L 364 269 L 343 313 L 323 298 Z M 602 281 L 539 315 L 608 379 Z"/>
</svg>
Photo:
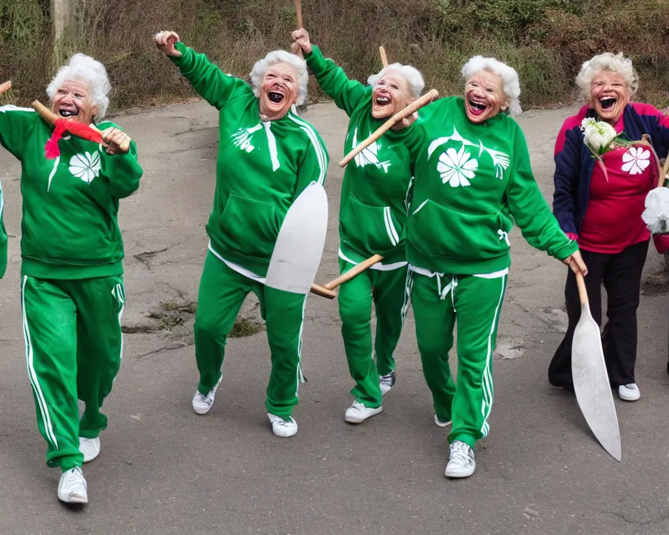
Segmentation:
<svg viewBox="0 0 669 535">
<path fill-rule="evenodd" d="M 425 201 L 410 215 L 411 245 L 425 256 L 483 260 L 509 250 L 512 224 L 500 212 L 475 214 Z"/>
</svg>

